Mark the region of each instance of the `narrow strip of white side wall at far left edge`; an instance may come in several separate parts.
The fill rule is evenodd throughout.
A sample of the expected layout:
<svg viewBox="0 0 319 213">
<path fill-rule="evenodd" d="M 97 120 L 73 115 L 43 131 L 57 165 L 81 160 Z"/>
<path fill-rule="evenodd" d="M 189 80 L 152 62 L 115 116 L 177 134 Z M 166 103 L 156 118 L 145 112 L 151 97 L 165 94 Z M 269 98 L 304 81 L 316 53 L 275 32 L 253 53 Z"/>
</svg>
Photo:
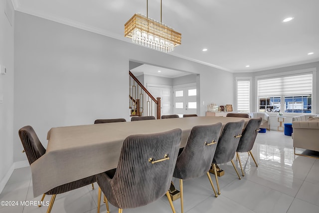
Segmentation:
<svg viewBox="0 0 319 213">
<path fill-rule="evenodd" d="M 7 13 L 13 11 L 11 1 L 7 1 Z M 6 184 L 9 170 L 13 164 L 13 33 L 14 28 L 8 21 L 4 10 L 6 0 L 0 0 L 0 64 L 5 66 L 7 74 L 0 74 L 0 96 L 3 102 L 0 103 L 0 192 Z M 11 20 L 12 24 L 14 19 Z M 21 152 L 22 149 L 20 148 Z M 11 171 L 12 172 L 12 171 Z"/>
</svg>

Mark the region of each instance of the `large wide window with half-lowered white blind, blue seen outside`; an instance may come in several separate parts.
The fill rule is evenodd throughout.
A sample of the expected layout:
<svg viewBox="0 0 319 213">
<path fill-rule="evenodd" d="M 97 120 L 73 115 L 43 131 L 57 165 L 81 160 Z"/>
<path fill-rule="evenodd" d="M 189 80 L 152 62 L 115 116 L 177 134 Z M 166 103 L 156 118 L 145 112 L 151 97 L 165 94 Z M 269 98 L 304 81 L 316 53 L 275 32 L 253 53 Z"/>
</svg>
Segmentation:
<svg viewBox="0 0 319 213">
<path fill-rule="evenodd" d="M 258 80 L 260 112 L 311 113 L 313 74 Z"/>
</svg>

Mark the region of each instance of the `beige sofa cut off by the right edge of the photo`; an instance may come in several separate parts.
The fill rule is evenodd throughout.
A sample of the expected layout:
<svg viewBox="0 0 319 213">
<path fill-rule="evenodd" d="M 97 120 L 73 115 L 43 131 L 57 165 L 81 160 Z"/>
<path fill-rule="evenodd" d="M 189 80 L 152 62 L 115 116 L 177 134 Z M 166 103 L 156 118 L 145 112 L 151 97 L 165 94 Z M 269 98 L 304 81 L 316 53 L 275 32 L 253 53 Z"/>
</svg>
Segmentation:
<svg viewBox="0 0 319 213">
<path fill-rule="evenodd" d="M 319 115 L 293 117 L 293 146 L 319 152 Z M 295 152 L 296 154 L 296 152 Z"/>
</svg>

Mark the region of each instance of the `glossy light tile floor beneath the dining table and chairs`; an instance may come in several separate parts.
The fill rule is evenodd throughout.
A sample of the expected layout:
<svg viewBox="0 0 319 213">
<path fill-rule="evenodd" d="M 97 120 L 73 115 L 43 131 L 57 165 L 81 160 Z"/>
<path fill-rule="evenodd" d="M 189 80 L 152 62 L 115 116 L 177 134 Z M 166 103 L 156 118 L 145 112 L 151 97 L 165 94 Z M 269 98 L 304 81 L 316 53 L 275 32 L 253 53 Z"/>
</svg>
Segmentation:
<svg viewBox="0 0 319 213">
<path fill-rule="evenodd" d="M 185 213 L 319 213 L 319 160 L 294 156 L 292 139 L 283 132 L 259 133 L 252 150 L 259 162 L 256 167 L 247 153 L 241 154 L 246 175 L 239 180 L 231 163 L 220 165 L 225 175 L 220 177 L 221 195 L 213 192 L 207 176 L 184 181 Z M 318 154 L 318 153 L 317 153 Z M 240 173 L 240 168 L 238 171 Z M 213 183 L 215 178 L 211 175 Z M 173 179 L 175 186 L 178 180 Z M 52 213 L 96 213 L 97 184 L 56 196 Z M 178 187 L 177 187 L 178 188 Z M 49 202 L 51 196 L 44 201 Z M 46 206 L 32 206 L 30 168 L 16 169 L 0 194 L 0 201 L 17 201 L 18 206 L 0 206 L 0 213 L 45 213 Z M 25 205 L 20 205 L 25 201 Z M 174 201 L 180 213 L 180 201 Z M 118 210 L 110 205 L 110 210 Z M 106 207 L 101 203 L 101 212 Z M 125 213 L 171 213 L 164 196 L 146 207 L 124 210 Z"/>
</svg>

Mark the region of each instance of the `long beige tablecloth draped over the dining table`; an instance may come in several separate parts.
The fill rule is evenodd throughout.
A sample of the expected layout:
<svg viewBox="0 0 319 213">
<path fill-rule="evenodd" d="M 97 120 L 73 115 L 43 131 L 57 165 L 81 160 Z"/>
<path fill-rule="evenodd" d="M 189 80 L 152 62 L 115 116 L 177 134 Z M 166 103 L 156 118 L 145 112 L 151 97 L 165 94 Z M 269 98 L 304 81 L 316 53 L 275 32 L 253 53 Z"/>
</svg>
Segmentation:
<svg viewBox="0 0 319 213">
<path fill-rule="evenodd" d="M 46 153 L 31 164 L 33 196 L 54 187 L 117 167 L 123 141 L 129 135 L 180 128 L 184 147 L 193 126 L 249 119 L 188 117 L 51 128 Z"/>
</svg>

